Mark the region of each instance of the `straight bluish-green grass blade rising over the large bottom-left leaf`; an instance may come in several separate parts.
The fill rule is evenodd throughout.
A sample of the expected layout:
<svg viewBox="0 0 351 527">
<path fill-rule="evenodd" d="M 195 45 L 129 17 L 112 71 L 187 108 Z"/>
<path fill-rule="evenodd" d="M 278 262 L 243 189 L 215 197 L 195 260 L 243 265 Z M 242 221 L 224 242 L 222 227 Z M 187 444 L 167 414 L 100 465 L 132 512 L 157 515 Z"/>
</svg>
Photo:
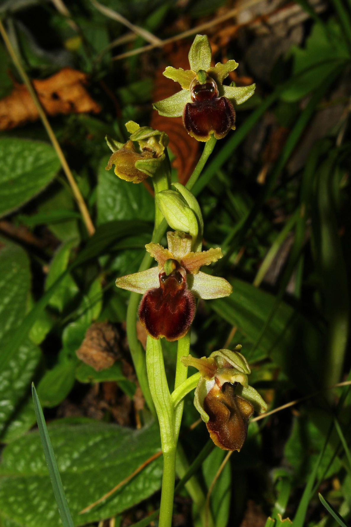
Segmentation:
<svg viewBox="0 0 351 527">
<path fill-rule="evenodd" d="M 32 396 L 35 409 L 35 415 L 39 428 L 39 435 L 42 441 L 45 460 L 47 463 L 47 469 L 49 471 L 51 483 L 53 486 L 53 491 L 55 495 L 55 500 L 57 503 L 57 508 L 59 515 L 61 516 L 62 523 L 64 527 L 74 527 L 72 520 L 71 512 L 69 512 L 68 503 L 65 496 L 65 491 L 63 489 L 61 476 L 58 472 L 58 466 L 54 454 L 54 450 L 50 441 L 50 437 L 47 431 L 44 414 L 42 406 L 40 404 L 34 383 L 32 383 Z"/>
</svg>

